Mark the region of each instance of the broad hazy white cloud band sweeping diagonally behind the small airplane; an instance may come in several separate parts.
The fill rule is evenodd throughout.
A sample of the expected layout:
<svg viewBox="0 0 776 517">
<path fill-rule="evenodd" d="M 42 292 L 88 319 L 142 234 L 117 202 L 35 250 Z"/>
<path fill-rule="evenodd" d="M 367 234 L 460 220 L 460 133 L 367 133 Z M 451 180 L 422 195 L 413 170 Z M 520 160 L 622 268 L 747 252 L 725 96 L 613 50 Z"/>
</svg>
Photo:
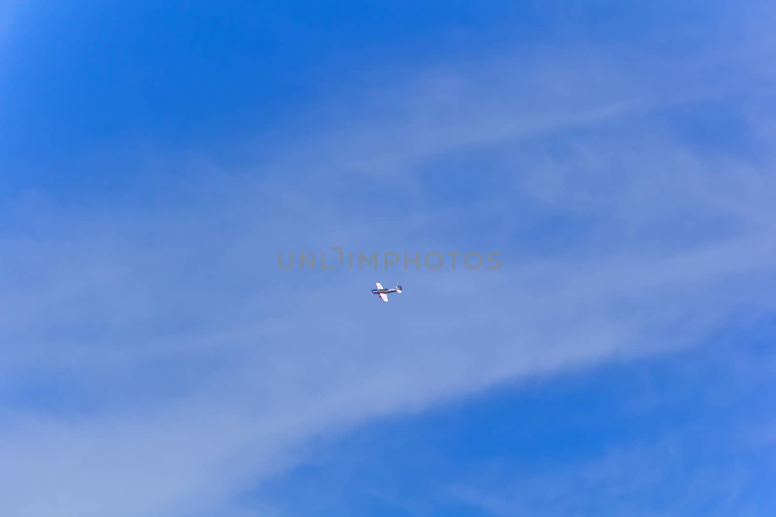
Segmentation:
<svg viewBox="0 0 776 517">
<path fill-rule="evenodd" d="M 255 164 L 262 180 L 216 170 L 151 206 L 34 206 L 38 222 L 20 217 L 26 228 L 0 244 L 3 512 L 217 508 L 319 433 L 697 343 L 741 307 L 774 308 L 772 154 L 705 160 L 655 111 L 714 102 L 702 54 L 688 69 L 591 49 L 446 67 L 370 91 L 359 122 L 342 109 L 340 130 Z M 573 141 L 566 157 L 559 134 Z M 491 204 L 429 202 L 424 167 L 482 150 L 499 179 L 472 190 Z M 408 206 L 355 217 L 346 175 L 362 192 L 404 191 Z M 516 203 L 532 208 L 518 219 Z M 438 230 L 478 216 L 501 221 L 483 232 L 504 267 L 400 271 L 392 312 L 366 302 L 386 272 L 276 264 L 278 251 L 338 245 L 476 246 L 476 226 L 470 240 Z M 573 239 L 532 253 L 519 238 L 539 225 Z M 376 342 L 376 329 L 400 339 Z M 30 392 L 42 379 L 50 397 Z M 56 397 L 70 411 L 47 407 Z M 589 478 L 614 475 L 606 465 Z"/>
</svg>

